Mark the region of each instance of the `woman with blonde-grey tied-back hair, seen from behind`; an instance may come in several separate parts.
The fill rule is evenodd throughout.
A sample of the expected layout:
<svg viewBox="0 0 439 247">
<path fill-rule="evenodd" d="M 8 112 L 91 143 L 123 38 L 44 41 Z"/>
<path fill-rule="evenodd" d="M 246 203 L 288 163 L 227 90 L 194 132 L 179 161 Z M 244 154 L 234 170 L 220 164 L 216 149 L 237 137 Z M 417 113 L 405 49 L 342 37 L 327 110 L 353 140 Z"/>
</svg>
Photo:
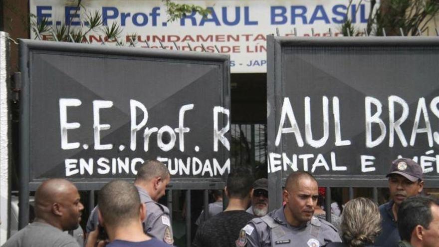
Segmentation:
<svg viewBox="0 0 439 247">
<path fill-rule="evenodd" d="M 341 215 L 340 230 L 343 243 L 329 243 L 326 247 L 374 247 L 375 237 L 381 232 L 378 206 L 363 197 L 349 201 Z"/>
</svg>

